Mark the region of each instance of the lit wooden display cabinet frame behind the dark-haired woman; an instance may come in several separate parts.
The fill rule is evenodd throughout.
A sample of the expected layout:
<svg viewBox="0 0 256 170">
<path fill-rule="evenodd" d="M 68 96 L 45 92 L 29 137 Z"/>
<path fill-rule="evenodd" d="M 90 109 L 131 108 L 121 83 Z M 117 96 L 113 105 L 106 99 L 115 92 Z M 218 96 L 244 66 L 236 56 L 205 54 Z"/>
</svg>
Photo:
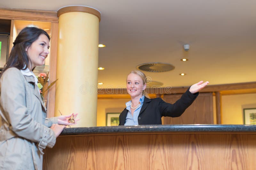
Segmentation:
<svg viewBox="0 0 256 170">
<path fill-rule="evenodd" d="M 0 8 L 0 19 L 11 20 L 9 52 L 12 49 L 12 42 L 20 30 L 27 25 L 36 25 L 44 29 L 50 36 L 50 54 L 45 60 L 45 66 L 36 67 L 35 74 L 39 72 L 50 72 L 49 83 L 56 80 L 57 65 L 57 42 L 58 42 L 58 22 L 57 11 L 41 10 L 20 10 Z M 1 23 L 0 23 L 1 25 Z M 47 117 L 54 117 L 55 106 L 55 85 L 48 91 Z"/>
</svg>

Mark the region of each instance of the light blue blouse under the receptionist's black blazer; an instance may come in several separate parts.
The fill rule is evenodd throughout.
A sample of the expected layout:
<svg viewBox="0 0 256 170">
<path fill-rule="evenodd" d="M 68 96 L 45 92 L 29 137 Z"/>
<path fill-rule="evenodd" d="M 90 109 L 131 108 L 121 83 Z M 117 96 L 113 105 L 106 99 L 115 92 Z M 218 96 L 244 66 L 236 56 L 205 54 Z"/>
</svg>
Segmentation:
<svg viewBox="0 0 256 170">
<path fill-rule="evenodd" d="M 131 113 L 132 101 L 130 100 L 129 102 L 125 103 L 126 104 L 126 109 L 128 110 L 128 113 L 127 113 L 124 125 L 126 125 L 126 126 L 139 125 L 138 116 L 140 114 L 140 109 L 143 105 L 143 102 L 144 102 L 144 96 L 140 97 L 140 105 L 133 112 L 133 117 L 132 117 L 132 113 Z"/>
</svg>

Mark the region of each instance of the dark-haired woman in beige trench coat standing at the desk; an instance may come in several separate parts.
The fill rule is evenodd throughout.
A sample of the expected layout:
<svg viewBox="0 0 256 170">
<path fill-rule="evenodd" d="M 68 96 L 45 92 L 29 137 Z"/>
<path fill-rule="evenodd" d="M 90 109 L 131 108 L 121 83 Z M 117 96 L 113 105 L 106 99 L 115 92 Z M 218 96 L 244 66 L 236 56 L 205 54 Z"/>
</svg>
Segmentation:
<svg viewBox="0 0 256 170">
<path fill-rule="evenodd" d="M 32 72 L 44 65 L 49 44 L 44 30 L 24 28 L 0 75 L 0 169 L 42 169 L 43 149 L 52 148 L 63 128 L 71 125 L 67 119 L 72 114 L 46 118 Z"/>
</svg>

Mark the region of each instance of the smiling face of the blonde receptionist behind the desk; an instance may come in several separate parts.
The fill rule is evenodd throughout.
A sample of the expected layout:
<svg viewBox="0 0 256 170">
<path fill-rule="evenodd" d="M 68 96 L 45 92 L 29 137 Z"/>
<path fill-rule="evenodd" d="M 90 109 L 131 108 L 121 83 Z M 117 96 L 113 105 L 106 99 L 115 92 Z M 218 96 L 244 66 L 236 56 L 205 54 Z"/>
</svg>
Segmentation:
<svg viewBox="0 0 256 170">
<path fill-rule="evenodd" d="M 143 80 L 139 75 L 131 73 L 127 76 L 126 89 L 132 98 L 140 98 L 142 97 L 143 90 L 146 89 L 146 84 L 143 83 Z"/>
</svg>

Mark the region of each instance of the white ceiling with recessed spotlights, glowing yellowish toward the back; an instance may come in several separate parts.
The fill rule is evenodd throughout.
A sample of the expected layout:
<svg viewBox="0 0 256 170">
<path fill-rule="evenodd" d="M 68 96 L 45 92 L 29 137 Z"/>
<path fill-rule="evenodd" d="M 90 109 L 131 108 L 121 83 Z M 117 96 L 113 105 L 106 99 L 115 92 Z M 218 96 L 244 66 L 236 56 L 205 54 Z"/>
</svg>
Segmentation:
<svg viewBox="0 0 256 170">
<path fill-rule="evenodd" d="M 163 86 L 256 81 L 255 0 L 0 0 L 0 8 L 57 11 L 68 5 L 101 12 L 99 43 L 107 47 L 99 49 L 99 67 L 105 70 L 98 81 L 104 87 L 125 85 L 126 75 L 147 62 L 175 66 L 144 72 Z M 188 52 L 183 44 L 190 44 Z M 183 57 L 189 61 L 180 61 Z"/>
</svg>

